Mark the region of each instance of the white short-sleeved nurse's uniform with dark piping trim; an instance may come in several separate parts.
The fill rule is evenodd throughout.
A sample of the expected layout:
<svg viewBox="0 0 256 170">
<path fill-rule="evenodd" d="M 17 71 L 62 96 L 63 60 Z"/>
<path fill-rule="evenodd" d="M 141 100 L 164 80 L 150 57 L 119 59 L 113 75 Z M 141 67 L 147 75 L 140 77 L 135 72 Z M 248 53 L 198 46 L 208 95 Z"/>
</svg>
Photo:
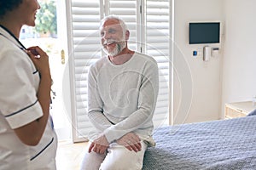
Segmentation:
<svg viewBox="0 0 256 170">
<path fill-rule="evenodd" d="M 23 49 L 0 27 L 0 170 L 55 170 L 57 138 L 50 116 L 36 146 L 23 144 L 13 130 L 43 116 L 39 73 Z"/>
</svg>

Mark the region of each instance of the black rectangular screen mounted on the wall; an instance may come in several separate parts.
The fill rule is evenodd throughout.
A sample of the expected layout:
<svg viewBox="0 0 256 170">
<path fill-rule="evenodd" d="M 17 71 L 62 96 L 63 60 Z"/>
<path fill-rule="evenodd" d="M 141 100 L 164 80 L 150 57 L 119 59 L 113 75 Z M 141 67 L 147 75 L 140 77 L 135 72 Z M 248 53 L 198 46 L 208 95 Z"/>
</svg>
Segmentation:
<svg viewBox="0 0 256 170">
<path fill-rule="evenodd" d="M 219 22 L 189 23 L 189 44 L 219 43 Z"/>
</svg>

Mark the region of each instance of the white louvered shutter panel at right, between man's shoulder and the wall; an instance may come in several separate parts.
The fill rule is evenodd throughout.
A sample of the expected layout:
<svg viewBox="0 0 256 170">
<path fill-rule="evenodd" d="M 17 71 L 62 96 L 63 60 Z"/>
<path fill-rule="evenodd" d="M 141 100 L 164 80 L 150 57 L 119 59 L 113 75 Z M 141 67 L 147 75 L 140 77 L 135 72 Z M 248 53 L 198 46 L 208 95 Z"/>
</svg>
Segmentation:
<svg viewBox="0 0 256 170">
<path fill-rule="evenodd" d="M 153 117 L 156 128 L 168 124 L 169 116 L 170 2 L 147 0 L 143 5 L 143 52 L 153 56 L 159 67 L 160 88 Z"/>
</svg>

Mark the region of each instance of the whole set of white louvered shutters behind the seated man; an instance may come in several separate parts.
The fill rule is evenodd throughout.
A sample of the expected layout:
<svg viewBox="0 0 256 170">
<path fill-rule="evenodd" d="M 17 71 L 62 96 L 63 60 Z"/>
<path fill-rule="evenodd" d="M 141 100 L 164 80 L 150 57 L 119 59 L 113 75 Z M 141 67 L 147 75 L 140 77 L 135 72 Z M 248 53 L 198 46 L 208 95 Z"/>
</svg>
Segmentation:
<svg viewBox="0 0 256 170">
<path fill-rule="evenodd" d="M 92 128 L 87 117 L 87 73 L 89 65 L 102 56 L 98 28 L 102 17 L 108 14 L 125 20 L 130 30 L 129 48 L 149 54 L 158 62 L 160 94 L 154 126 L 159 127 L 169 111 L 168 0 L 70 0 L 67 12 L 73 141 L 86 139 Z"/>
</svg>

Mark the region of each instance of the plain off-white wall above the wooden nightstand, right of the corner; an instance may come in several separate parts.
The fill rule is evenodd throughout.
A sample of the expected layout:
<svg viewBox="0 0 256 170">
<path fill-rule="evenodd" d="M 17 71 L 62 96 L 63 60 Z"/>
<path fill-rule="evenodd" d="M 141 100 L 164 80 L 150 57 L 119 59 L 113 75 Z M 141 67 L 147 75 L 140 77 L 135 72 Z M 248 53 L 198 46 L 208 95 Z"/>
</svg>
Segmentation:
<svg viewBox="0 0 256 170">
<path fill-rule="evenodd" d="M 256 94 L 256 1 L 225 0 L 223 104 Z"/>
</svg>

